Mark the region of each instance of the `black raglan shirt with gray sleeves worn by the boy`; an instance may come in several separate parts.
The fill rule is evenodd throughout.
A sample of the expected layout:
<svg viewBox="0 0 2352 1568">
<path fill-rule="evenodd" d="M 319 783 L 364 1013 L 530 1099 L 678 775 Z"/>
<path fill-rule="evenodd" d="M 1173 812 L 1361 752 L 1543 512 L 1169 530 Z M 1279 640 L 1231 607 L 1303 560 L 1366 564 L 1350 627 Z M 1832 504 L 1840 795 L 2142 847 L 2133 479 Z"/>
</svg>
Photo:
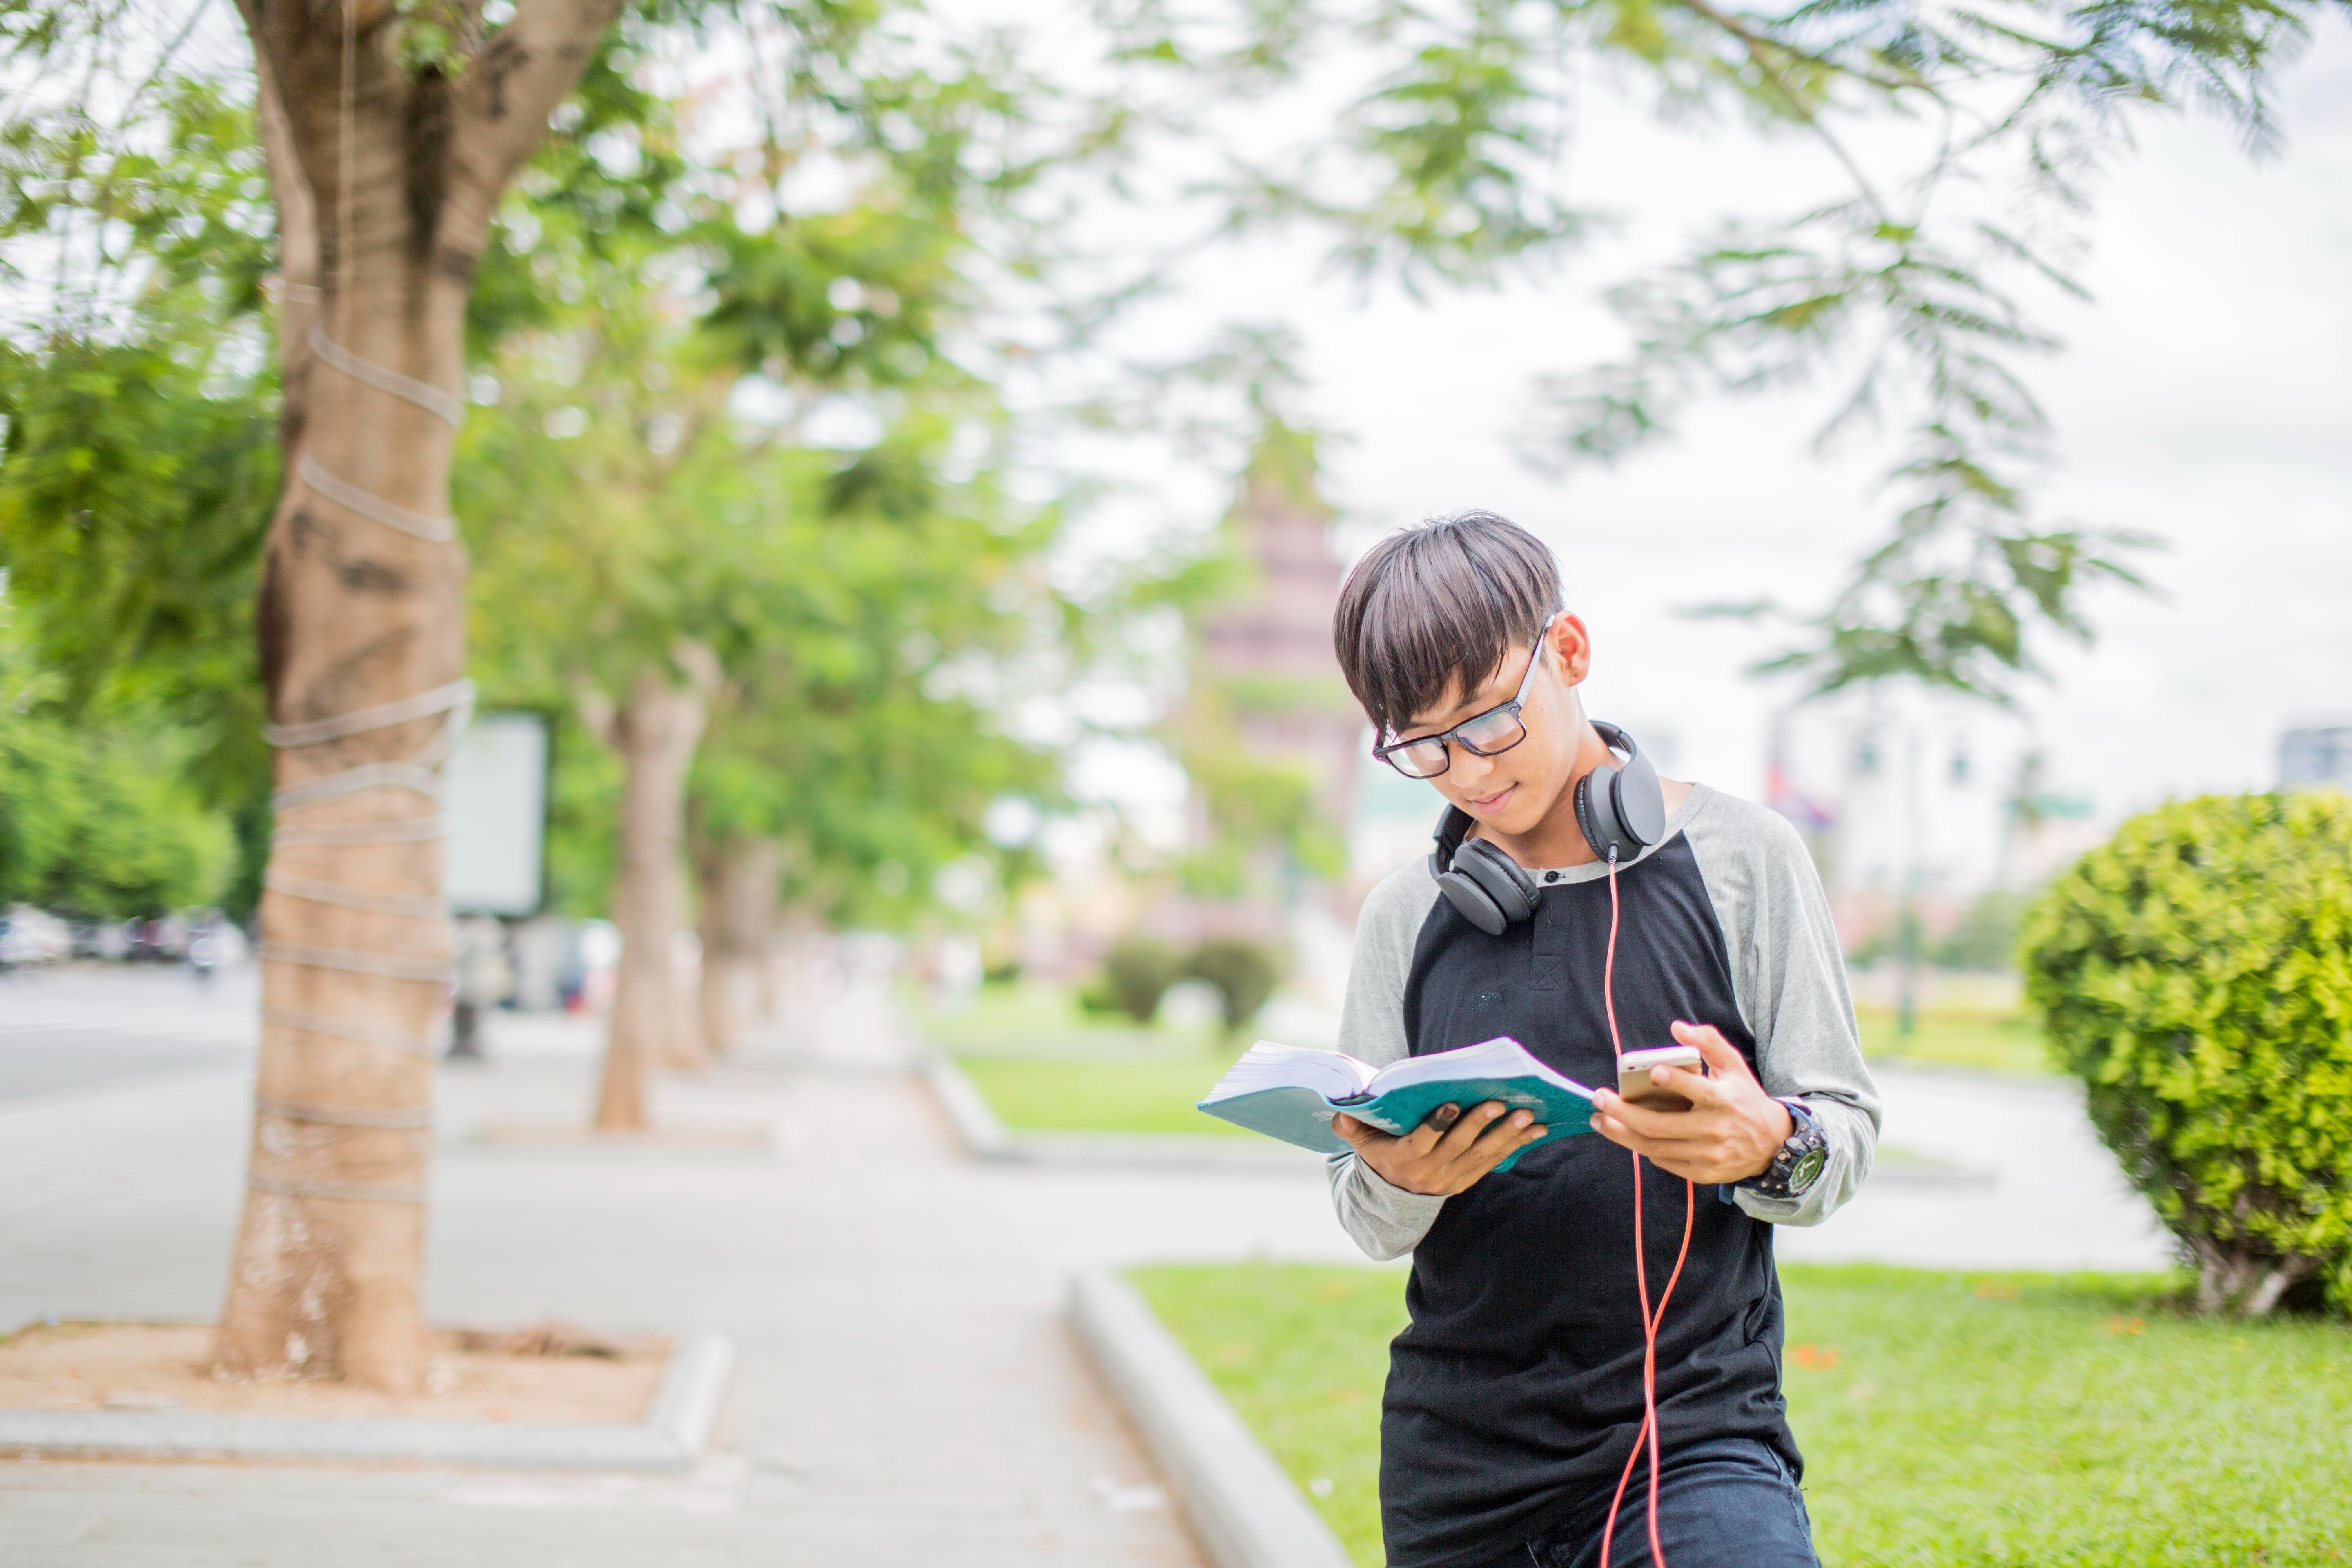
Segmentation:
<svg viewBox="0 0 2352 1568">
<path fill-rule="evenodd" d="M 1385 1065 L 1512 1034 L 1578 1081 L 1613 1084 L 1599 1006 L 1609 867 L 1531 875 L 1536 919 L 1501 938 L 1454 912 L 1425 860 L 1383 879 L 1357 924 L 1341 1051 Z M 1661 1434 L 1752 1434 L 1802 1465 L 1778 1387 L 1771 1225 L 1818 1225 L 1853 1197 L 1879 1124 L 1837 929 L 1795 827 L 1705 785 L 1616 879 L 1625 1048 L 1672 1044 L 1675 1018 L 1717 1025 L 1764 1091 L 1802 1098 L 1828 1140 L 1802 1197 L 1696 1190 L 1691 1262 L 1661 1326 Z M 1642 1197 L 1656 1293 L 1684 1185 L 1649 1166 Z M 1611 1483 L 1642 1418 L 1630 1157 L 1597 1135 L 1559 1138 L 1439 1199 L 1341 1154 L 1331 1199 L 1371 1258 L 1414 1253 L 1414 1321 L 1383 1403 L 1390 1566 L 1505 1556 Z"/>
</svg>

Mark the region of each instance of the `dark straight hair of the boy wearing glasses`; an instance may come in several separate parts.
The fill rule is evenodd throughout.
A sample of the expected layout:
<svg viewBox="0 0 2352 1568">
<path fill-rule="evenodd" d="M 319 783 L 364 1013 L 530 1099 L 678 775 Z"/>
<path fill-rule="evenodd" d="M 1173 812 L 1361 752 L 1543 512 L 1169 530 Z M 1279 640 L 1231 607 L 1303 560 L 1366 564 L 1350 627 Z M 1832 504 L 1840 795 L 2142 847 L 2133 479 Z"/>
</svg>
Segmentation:
<svg viewBox="0 0 2352 1568">
<path fill-rule="evenodd" d="M 1390 534 L 1355 564 L 1331 644 L 1388 736 L 1446 691 L 1494 679 L 1557 609 L 1559 567 L 1541 538 L 1494 512 L 1454 512 Z"/>
</svg>

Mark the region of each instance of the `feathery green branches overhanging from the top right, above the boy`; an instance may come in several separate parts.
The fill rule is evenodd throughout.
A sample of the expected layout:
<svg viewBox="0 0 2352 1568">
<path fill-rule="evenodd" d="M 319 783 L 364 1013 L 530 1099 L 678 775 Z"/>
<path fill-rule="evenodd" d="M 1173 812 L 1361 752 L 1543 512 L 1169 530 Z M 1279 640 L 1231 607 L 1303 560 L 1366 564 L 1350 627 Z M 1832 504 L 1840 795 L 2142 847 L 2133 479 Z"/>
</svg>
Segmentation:
<svg viewBox="0 0 2352 1568">
<path fill-rule="evenodd" d="M 2058 343 L 2027 294 L 2079 294 L 2072 230 L 2138 118 L 2206 108 L 2274 146 L 2274 73 L 2331 9 L 1367 0 L 1131 5 L 1117 26 L 1124 59 L 1195 89 L 1279 94 L 1315 61 L 1312 141 L 1228 148 L 1223 219 L 1324 226 L 1336 261 L 1416 294 L 1595 228 L 1564 153 L 1599 73 L 1668 120 L 1745 118 L 1778 139 L 1792 188 L 1825 176 L 1837 193 L 1729 221 L 1618 287 L 1630 353 L 1538 388 L 1529 456 L 1616 461 L 1703 393 L 1837 383 L 1820 440 L 1893 433 L 1893 529 L 1766 668 L 1816 691 L 1900 675 L 2002 696 L 2034 670 L 2032 632 L 2086 637 L 2084 592 L 2136 583 L 2147 543 L 2034 515 L 2051 430 L 2023 367 Z"/>
</svg>

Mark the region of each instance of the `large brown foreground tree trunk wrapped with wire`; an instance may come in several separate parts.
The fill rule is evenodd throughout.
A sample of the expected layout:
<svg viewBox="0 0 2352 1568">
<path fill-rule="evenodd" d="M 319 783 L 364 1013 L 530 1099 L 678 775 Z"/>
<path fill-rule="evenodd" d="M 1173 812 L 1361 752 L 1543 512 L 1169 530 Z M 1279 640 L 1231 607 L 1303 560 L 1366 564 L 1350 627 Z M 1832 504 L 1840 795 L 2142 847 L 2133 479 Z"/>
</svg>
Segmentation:
<svg viewBox="0 0 2352 1568">
<path fill-rule="evenodd" d="M 256 614 L 278 832 L 214 1345 L 230 1378 L 423 1382 L 440 762 L 470 701 L 447 522 L 466 299 L 499 193 L 616 7 L 522 0 L 452 80 L 400 66 L 388 0 L 240 0 L 280 221 L 287 482 Z"/>
</svg>

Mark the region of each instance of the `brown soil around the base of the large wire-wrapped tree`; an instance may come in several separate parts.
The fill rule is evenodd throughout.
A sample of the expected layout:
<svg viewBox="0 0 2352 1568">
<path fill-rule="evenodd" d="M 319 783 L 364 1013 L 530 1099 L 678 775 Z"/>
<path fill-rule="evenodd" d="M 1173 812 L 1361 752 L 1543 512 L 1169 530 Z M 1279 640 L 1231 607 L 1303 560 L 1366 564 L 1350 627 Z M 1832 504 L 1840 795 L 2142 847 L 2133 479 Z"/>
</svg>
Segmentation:
<svg viewBox="0 0 2352 1568">
<path fill-rule="evenodd" d="M 670 1359 L 661 1335 L 433 1333 L 426 1392 L 214 1378 L 212 1324 L 35 1324 L 0 1340 L 0 1410 L 136 1410 L 310 1420 L 637 1422 Z M 546 1349 L 555 1345 L 553 1354 Z"/>
</svg>

